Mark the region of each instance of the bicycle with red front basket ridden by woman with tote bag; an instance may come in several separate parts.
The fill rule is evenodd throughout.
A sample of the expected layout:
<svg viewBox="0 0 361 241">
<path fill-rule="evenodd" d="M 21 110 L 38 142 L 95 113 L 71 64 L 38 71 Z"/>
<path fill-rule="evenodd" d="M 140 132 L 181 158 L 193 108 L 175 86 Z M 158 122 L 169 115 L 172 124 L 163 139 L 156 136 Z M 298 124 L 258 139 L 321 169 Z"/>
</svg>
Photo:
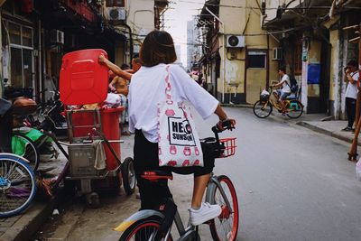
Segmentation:
<svg viewBox="0 0 361 241">
<path fill-rule="evenodd" d="M 228 124 L 226 129 L 232 129 Z M 212 127 L 215 137 L 201 140 L 212 146 L 217 158 L 235 154 L 236 138 L 219 139 L 217 125 Z M 172 180 L 171 171 L 144 171 L 142 178 L 149 181 Z M 211 173 L 208 181 L 206 202 L 219 204 L 222 212 L 218 218 L 207 221 L 213 240 L 236 240 L 238 231 L 238 201 L 232 181 L 226 175 Z M 178 240 L 200 240 L 198 227 L 184 227 L 173 199 L 167 199 L 160 209 L 144 209 L 126 218 L 116 231 L 123 232 L 121 241 L 128 240 L 173 240 L 171 226 L 175 223 L 180 238 Z"/>
</svg>

